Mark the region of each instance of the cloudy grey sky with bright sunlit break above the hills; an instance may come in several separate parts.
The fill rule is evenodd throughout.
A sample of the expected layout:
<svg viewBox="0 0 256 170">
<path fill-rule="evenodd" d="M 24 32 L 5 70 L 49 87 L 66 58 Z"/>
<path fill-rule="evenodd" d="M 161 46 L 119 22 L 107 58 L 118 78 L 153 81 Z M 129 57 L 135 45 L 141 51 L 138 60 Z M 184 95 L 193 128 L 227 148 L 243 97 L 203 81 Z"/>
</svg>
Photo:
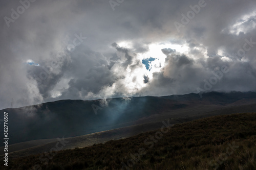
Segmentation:
<svg viewBox="0 0 256 170">
<path fill-rule="evenodd" d="M 256 90 L 256 2 L 0 2 L 0 109 Z"/>
</svg>

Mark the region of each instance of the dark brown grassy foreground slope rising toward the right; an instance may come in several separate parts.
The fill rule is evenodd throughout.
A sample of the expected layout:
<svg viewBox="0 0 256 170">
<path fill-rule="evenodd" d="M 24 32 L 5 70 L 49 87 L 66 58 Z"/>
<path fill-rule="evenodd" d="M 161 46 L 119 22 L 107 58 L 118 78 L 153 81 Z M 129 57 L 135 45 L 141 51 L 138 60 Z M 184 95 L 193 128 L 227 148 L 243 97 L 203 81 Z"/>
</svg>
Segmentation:
<svg viewBox="0 0 256 170">
<path fill-rule="evenodd" d="M 8 169 L 31 169 L 35 164 L 42 169 L 256 169 L 255 116 L 244 113 L 194 120 L 164 129 L 168 130 L 165 134 L 151 131 L 52 153 L 49 162 L 41 162 L 40 155 L 12 159 Z M 159 139 L 150 139 L 156 135 Z M 239 148 L 232 150 L 229 144 Z M 131 154 L 135 161 L 129 161 Z"/>
</svg>

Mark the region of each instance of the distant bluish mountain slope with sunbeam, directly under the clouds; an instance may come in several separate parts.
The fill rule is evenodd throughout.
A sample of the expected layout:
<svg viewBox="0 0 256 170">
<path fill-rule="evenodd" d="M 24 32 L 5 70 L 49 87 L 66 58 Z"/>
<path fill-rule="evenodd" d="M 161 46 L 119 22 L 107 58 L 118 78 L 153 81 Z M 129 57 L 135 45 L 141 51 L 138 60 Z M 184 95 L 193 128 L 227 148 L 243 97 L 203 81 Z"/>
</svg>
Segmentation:
<svg viewBox="0 0 256 170">
<path fill-rule="evenodd" d="M 240 101 L 243 101 L 243 105 L 246 105 L 247 101 L 250 101 L 250 104 L 254 101 L 256 103 L 256 93 L 209 92 L 204 93 L 202 99 L 199 94 L 190 93 L 95 101 L 61 100 L 22 108 L 8 108 L 0 112 L 9 114 L 9 144 L 13 144 L 36 139 L 73 137 L 131 126 L 140 119 L 154 115 L 161 117 L 162 113 L 203 114 L 224 109 L 232 103 L 238 105 Z M 3 128 L 0 132 L 3 134 Z M 2 145 L 1 143 L 0 146 Z"/>
</svg>

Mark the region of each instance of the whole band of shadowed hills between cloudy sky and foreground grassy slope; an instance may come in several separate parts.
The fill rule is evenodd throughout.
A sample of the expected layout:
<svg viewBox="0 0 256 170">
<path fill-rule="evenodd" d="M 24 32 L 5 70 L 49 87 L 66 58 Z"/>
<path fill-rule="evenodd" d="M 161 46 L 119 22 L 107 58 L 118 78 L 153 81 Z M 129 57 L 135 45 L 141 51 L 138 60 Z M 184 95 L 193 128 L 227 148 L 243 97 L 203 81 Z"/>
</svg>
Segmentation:
<svg viewBox="0 0 256 170">
<path fill-rule="evenodd" d="M 256 95 L 255 92 L 210 92 L 204 93 L 203 98 L 190 93 L 64 100 L 2 111 L 9 114 L 8 153 L 15 158 L 48 152 L 57 138 L 62 137 L 71 141 L 63 149 L 82 148 L 159 129 L 163 120 L 174 125 L 214 115 L 256 112 Z M 1 145 L 0 155 L 4 154 Z"/>
</svg>

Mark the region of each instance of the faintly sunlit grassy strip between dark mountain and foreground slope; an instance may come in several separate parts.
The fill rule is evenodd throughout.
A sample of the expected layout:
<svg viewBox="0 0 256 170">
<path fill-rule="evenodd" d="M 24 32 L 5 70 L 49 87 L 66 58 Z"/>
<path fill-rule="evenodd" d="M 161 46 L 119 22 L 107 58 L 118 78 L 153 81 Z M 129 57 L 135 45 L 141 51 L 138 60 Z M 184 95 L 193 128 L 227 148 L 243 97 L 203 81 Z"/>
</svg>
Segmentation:
<svg viewBox="0 0 256 170">
<path fill-rule="evenodd" d="M 177 124 L 177 122 L 174 122 L 172 120 L 170 121 L 170 123 Z M 65 148 L 63 149 L 66 150 L 66 149 L 89 147 L 95 143 L 96 144 L 104 143 L 109 140 L 127 138 L 143 132 L 157 130 L 161 126 L 162 126 L 161 122 L 140 124 L 136 126 L 129 126 L 129 127 L 113 129 L 109 131 L 103 131 L 103 132 L 97 132 L 97 133 L 92 133 L 88 135 L 67 138 L 66 140 L 69 141 L 69 143 L 66 143 Z M 47 142 L 47 139 L 41 139 L 41 140 L 11 144 L 9 145 L 9 149 L 8 149 L 8 157 L 12 159 L 12 158 L 18 158 L 22 156 L 35 155 L 35 154 L 48 152 L 50 151 L 51 148 L 53 147 L 55 148 L 55 145 L 58 142 L 58 140 L 49 139 L 49 141 L 51 142 Z M 44 142 L 44 144 L 42 144 L 42 142 Z M 24 145 L 28 145 L 28 144 L 31 144 L 32 147 L 23 149 Z M 3 153 L 2 155 L 0 155 L 0 157 L 4 156 L 4 148 L 5 147 L 0 147 L 0 153 Z"/>
</svg>

